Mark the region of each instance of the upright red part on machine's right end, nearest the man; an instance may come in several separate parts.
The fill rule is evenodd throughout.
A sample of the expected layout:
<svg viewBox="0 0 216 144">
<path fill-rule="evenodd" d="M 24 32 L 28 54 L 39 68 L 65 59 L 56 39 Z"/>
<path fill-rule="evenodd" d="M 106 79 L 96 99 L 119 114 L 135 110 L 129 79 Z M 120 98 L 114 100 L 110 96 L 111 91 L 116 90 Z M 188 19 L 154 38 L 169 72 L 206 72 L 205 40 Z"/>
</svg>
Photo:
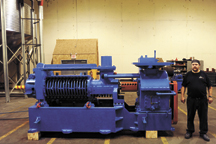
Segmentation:
<svg viewBox="0 0 216 144">
<path fill-rule="evenodd" d="M 173 120 L 172 124 L 177 124 L 178 122 L 178 84 L 177 81 L 173 81 L 170 83 L 173 85 L 173 91 L 175 91 L 176 95 L 173 96 Z"/>
</svg>

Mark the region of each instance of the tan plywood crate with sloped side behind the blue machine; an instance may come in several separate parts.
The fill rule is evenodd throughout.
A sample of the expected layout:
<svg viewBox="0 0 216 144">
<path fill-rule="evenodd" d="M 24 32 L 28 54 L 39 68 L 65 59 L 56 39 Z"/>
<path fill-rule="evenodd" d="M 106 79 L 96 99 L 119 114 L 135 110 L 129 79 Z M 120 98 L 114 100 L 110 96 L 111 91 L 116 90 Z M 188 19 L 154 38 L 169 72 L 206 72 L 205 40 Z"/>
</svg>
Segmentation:
<svg viewBox="0 0 216 144">
<path fill-rule="evenodd" d="M 87 60 L 88 64 L 99 65 L 97 39 L 58 39 L 53 52 L 52 64 L 61 64 L 61 60 L 71 60 L 76 54 L 76 60 Z M 54 74 L 60 71 L 55 71 Z M 93 78 L 98 78 L 93 70 Z M 89 73 L 89 72 L 88 72 Z"/>
</svg>

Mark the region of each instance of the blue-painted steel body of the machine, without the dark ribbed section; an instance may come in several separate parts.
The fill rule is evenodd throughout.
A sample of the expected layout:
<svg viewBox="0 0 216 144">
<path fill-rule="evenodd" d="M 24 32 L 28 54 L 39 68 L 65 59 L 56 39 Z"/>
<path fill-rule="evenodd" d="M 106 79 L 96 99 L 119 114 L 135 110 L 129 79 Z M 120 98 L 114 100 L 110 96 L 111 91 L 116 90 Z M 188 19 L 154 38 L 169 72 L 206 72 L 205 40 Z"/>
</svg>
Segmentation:
<svg viewBox="0 0 216 144">
<path fill-rule="evenodd" d="M 169 79 L 166 71 L 159 70 L 164 65 L 172 63 L 158 63 L 156 54 L 154 58 L 147 56 L 134 63 L 140 68 L 137 74 L 114 74 L 112 57 L 101 58 L 101 66 L 95 64 L 83 65 L 46 65 L 38 64 L 34 74 L 26 81 L 26 94 L 36 97 L 38 102 L 29 107 L 29 133 L 36 131 L 54 131 L 65 134 L 72 132 L 100 132 L 102 134 L 115 133 L 121 130 L 174 130 L 171 126 L 172 110 L 169 106 L 170 95 L 175 92 L 169 88 Z M 90 70 L 98 69 L 100 79 L 87 77 L 87 96 L 110 94 L 113 107 L 50 107 L 45 100 L 46 78 L 56 77 L 62 79 L 66 76 L 55 76 L 54 70 Z M 67 77 L 83 77 L 67 76 Z M 138 83 L 138 98 L 134 112 L 125 108 L 124 99 L 118 97 L 119 80 L 115 78 L 136 78 Z M 64 85 L 63 85 L 64 87 Z M 52 87 L 51 87 L 52 88 Z M 67 93 L 68 87 L 62 91 Z M 77 89 L 79 89 L 77 87 Z M 39 105 L 39 107 L 38 107 Z"/>
</svg>

